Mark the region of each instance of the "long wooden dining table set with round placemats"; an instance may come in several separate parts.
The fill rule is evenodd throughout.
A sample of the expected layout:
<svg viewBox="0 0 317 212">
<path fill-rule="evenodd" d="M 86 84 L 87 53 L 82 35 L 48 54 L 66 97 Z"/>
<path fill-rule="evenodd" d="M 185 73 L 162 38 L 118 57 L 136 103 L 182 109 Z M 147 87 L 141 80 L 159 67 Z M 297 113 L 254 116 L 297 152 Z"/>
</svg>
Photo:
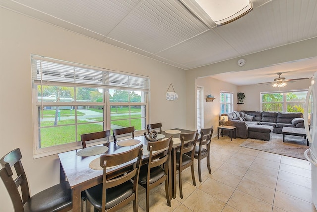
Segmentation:
<svg viewBox="0 0 317 212">
<path fill-rule="evenodd" d="M 163 131 L 161 134 L 159 134 L 161 137 L 164 137 L 164 138 L 169 138 L 170 136 L 173 136 L 173 138 L 175 138 L 173 140 L 174 144 L 172 148 L 171 164 L 170 164 L 171 171 L 169 174 L 169 188 L 171 191 L 172 198 L 176 198 L 176 151 L 180 148 L 180 145 L 181 145 L 179 142 L 179 137 L 182 133 L 192 133 L 192 132 L 193 131 L 191 130 L 174 128 L 171 130 Z M 119 141 L 116 144 L 114 142 L 109 142 L 104 145 L 97 145 L 97 146 L 106 146 L 108 149 L 106 152 L 103 152 L 97 155 L 92 155 L 92 156 L 82 155 L 81 152 L 83 149 L 76 149 L 76 150 L 58 154 L 60 167 L 61 167 L 61 170 L 60 170 L 61 181 L 67 179 L 72 189 L 73 211 L 76 211 L 76 212 L 81 211 L 82 191 L 85 191 L 86 189 L 94 187 L 103 182 L 102 168 L 100 167 L 99 170 L 92 168 L 93 161 L 96 161 L 97 158 L 100 158 L 101 155 L 109 155 L 109 154 L 117 154 L 117 153 L 125 152 L 143 144 L 144 153 L 142 156 L 141 165 L 147 164 L 149 159 L 149 154 L 147 153 L 146 145 L 148 141 L 146 140 L 144 135 L 136 136 L 132 140 L 140 141 L 140 142 L 138 142 L 135 145 L 129 145 L 129 146 L 122 146 L 119 144 Z M 163 152 L 160 152 L 160 153 L 158 152 L 158 156 L 159 154 L 163 154 Z M 116 171 L 118 171 L 119 169 L 128 170 L 129 167 L 134 162 L 135 161 L 130 161 L 128 163 L 109 169 L 107 170 L 107 175 L 115 176 Z"/>
</svg>

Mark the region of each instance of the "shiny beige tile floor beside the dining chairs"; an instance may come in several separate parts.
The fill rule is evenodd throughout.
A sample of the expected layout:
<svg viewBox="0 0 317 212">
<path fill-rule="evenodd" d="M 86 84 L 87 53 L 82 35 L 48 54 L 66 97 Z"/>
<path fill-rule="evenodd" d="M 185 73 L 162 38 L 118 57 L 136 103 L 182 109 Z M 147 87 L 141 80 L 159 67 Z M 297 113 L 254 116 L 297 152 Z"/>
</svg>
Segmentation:
<svg viewBox="0 0 317 212">
<path fill-rule="evenodd" d="M 151 190 L 151 212 L 316 212 L 308 161 L 239 147 L 244 139 L 212 139 L 211 172 L 203 160 L 202 183 L 183 172 L 183 196 L 168 207 L 164 185 Z M 177 179 L 178 180 L 178 179 Z M 138 211 L 144 212 L 145 189 L 139 187 Z M 132 203 L 120 211 L 132 212 Z"/>
</svg>

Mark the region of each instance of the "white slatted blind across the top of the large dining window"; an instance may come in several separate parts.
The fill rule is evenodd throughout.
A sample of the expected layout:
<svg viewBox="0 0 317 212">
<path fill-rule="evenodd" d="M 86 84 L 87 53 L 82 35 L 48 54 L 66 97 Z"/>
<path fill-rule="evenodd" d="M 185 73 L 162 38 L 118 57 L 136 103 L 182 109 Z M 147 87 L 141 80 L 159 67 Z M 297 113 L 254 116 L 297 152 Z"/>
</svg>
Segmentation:
<svg viewBox="0 0 317 212">
<path fill-rule="evenodd" d="M 146 76 L 86 66 L 37 55 L 32 55 L 31 60 L 32 81 L 35 84 L 135 91 L 150 90 L 150 80 Z"/>
</svg>

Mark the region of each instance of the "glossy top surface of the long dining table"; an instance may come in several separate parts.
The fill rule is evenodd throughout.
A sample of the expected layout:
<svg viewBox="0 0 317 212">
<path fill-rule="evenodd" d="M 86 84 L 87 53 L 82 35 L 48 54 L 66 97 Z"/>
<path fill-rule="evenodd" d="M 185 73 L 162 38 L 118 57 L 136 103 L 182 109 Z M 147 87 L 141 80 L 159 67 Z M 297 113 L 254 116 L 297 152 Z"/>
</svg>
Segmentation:
<svg viewBox="0 0 317 212">
<path fill-rule="evenodd" d="M 184 130 L 179 128 L 175 128 L 173 130 L 180 130 L 181 133 L 193 132 L 190 130 Z M 163 139 L 169 138 L 170 136 L 173 136 L 174 138 L 179 138 L 181 133 L 168 134 L 168 133 L 162 132 L 162 134 L 165 135 Z M 67 177 L 67 180 L 71 188 L 74 188 L 75 186 L 89 180 L 93 180 L 93 179 L 100 180 L 102 178 L 103 170 L 95 170 L 89 167 L 90 162 L 100 157 L 101 155 L 121 153 L 121 152 L 128 151 L 130 149 L 133 149 L 141 144 L 147 145 L 148 141 L 145 139 L 144 135 L 134 137 L 134 139 L 140 140 L 141 142 L 133 146 L 118 146 L 114 144 L 114 142 L 110 142 L 110 143 L 107 143 L 107 146 L 109 147 L 109 150 L 107 152 L 103 154 L 99 154 L 99 155 L 94 155 L 94 156 L 88 156 L 88 157 L 77 156 L 76 153 L 80 151 L 81 149 L 72 150 L 72 151 L 58 154 L 60 163 L 63 167 L 65 176 Z M 179 146 L 180 144 L 174 144 L 173 148 L 177 148 Z M 148 158 L 149 158 L 149 155 L 143 155 L 142 160 L 144 161 L 144 160 L 147 160 Z M 131 163 L 122 164 L 116 168 L 111 169 L 111 171 L 109 170 L 107 172 L 108 173 L 114 172 L 115 170 L 119 168 L 131 165 Z"/>
</svg>

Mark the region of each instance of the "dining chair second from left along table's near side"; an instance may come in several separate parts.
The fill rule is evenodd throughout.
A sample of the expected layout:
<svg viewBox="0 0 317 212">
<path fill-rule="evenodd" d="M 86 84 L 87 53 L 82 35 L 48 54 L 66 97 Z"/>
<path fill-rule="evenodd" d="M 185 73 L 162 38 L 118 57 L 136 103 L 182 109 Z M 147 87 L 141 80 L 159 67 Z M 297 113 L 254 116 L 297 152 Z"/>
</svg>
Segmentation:
<svg viewBox="0 0 317 212">
<path fill-rule="evenodd" d="M 173 136 L 163 141 L 148 142 L 149 160 L 148 163 L 141 166 L 139 184 L 143 186 L 146 191 L 146 208 L 145 211 L 149 212 L 149 195 L 150 190 L 165 181 L 165 193 L 167 205 L 171 206 L 169 184 L 168 184 L 168 171 L 170 165 L 171 151 L 173 148 Z M 154 151 L 164 150 L 163 155 L 153 155 Z M 163 168 L 164 167 L 164 168 Z"/>
</svg>

